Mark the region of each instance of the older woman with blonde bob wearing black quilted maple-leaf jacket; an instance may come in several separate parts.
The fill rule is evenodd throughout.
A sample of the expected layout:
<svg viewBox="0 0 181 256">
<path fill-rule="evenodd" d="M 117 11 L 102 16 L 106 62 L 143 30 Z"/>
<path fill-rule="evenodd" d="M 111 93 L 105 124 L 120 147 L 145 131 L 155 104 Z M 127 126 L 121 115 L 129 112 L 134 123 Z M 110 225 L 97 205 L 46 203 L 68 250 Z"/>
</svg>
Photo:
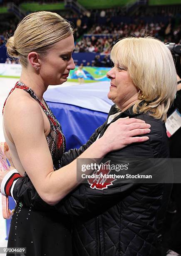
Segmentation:
<svg viewBox="0 0 181 256">
<path fill-rule="evenodd" d="M 88 179 L 56 207 L 61 213 L 74 216 L 74 255 L 160 256 L 171 185 L 164 184 L 159 175 L 164 178 L 167 171 L 171 172 L 163 159 L 169 158 L 165 120 L 176 95 L 176 69 L 169 49 L 151 37 L 118 41 L 111 59 L 114 67 L 107 73 L 111 80 L 108 97 L 115 105 L 107 125 L 129 116 L 149 123 L 151 133 L 149 141 L 110 152 L 106 161 L 120 165 L 132 159 L 132 169 L 122 170 L 121 174 L 142 172 L 156 174 L 158 179 L 154 179 L 155 183 L 149 179 L 142 183 L 138 179 Z M 98 134 L 101 137 L 104 128 Z M 140 159 L 141 163 L 142 159 L 152 159 L 152 168 L 149 164 L 138 165 Z"/>
</svg>

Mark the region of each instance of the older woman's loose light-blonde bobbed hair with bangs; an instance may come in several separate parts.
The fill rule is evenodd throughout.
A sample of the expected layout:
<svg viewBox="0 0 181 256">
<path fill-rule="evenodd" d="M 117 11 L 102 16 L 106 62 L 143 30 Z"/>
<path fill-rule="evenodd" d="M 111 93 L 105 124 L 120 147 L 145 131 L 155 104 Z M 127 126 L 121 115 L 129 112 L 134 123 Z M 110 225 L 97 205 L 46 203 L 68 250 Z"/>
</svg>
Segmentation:
<svg viewBox="0 0 181 256">
<path fill-rule="evenodd" d="M 166 121 L 177 89 L 176 69 L 170 50 L 156 38 L 124 38 L 112 48 L 111 59 L 129 72 L 141 91 L 134 113 L 149 113 Z M 140 104 L 141 103 L 141 104 Z"/>
</svg>

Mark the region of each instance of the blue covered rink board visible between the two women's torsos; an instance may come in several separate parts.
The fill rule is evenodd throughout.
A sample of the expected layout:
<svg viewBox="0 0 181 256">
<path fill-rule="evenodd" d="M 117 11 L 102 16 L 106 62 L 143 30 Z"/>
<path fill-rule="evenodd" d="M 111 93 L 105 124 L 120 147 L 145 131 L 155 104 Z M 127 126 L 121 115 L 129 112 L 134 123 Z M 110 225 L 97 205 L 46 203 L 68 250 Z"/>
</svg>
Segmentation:
<svg viewBox="0 0 181 256">
<path fill-rule="evenodd" d="M 92 133 L 107 119 L 107 113 L 62 103 L 47 104 L 62 126 L 66 150 L 79 148 L 86 143 Z"/>
</svg>

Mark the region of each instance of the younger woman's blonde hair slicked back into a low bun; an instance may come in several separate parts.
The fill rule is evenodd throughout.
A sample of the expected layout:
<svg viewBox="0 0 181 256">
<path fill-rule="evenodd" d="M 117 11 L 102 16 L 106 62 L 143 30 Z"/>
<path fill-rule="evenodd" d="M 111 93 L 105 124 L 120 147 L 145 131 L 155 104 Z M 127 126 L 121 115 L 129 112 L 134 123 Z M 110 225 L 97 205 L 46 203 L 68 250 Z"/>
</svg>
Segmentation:
<svg viewBox="0 0 181 256">
<path fill-rule="evenodd" d="M 27 67 L 30 52 L 35 51 L 45 57 L 53 44 L 67 38 L 72 32 L 70 23 L 57 13 L 30 13 L 20 21 L 14 36 L 7 40 L 7 54 L 20 58 L 22 66 Z"/>
</svg>

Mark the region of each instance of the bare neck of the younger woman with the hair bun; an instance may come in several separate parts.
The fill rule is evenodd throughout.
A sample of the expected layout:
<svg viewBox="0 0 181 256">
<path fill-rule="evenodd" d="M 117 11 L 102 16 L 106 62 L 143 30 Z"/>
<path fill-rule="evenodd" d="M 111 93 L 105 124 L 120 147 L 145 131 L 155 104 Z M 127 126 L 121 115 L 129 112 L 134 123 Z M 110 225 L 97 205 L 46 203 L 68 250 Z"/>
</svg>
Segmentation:
<svg viewBox="0 0 181 256">
<path fill-rule="evenodd" d="M 40 75 L 33 71 L 29 71 L 22 67 L 22 73 L 20 76 L 20 82 L 30 87 L 40 100 L 43 98 L 44 92 L 47 90 L 48 85 L 45 85 Z"/>
</svg>

